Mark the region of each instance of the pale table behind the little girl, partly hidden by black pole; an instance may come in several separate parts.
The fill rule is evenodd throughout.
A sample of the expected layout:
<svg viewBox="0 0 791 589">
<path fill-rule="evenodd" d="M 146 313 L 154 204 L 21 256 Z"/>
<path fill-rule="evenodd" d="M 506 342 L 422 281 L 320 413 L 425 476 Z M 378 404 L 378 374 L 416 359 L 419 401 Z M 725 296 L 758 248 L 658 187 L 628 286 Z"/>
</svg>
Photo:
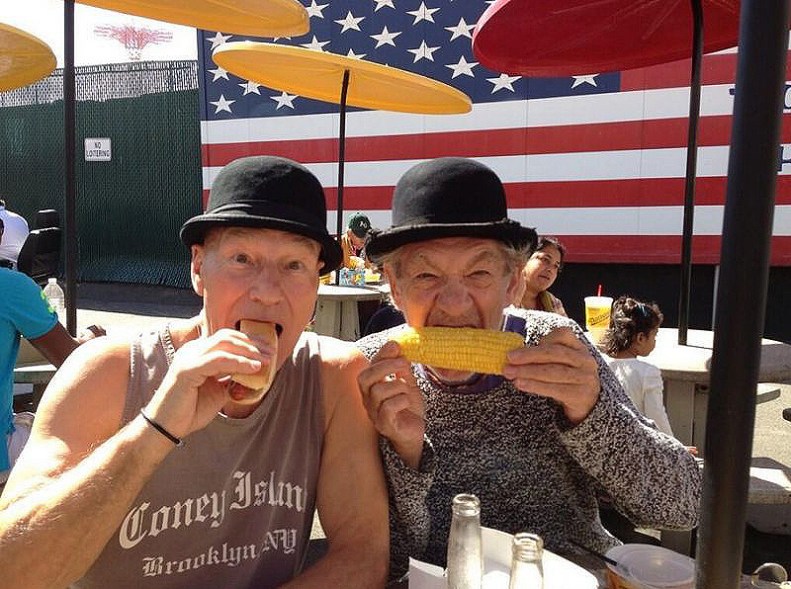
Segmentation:
<svg viewBox="0 0 791 589">
<path fill-rule="evenodd" d="M 687 333 L 687 345 L 679 346 L 678 330 L 662 328 L 656 348 L 645 358 L 662 371 L 665 407 L 673 433 L 682 443 L 697 446 L 701 455 L 706 440 L 713 339 L 711 331 L 691 329 Z M 762 340 L 758 380 L 791 381 L 791 345 Z M 766 394 L 766 391 L 759 388 L 757 393 Z"/>
</svg>

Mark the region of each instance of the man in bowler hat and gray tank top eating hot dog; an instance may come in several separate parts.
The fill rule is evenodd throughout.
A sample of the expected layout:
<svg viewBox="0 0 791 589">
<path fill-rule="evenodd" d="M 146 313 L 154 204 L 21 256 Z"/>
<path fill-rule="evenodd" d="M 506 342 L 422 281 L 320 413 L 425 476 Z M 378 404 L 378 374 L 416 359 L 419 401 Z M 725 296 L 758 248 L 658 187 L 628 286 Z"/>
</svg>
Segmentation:
<svg viewBox="0 0 791 589">
<path fill-rule="evenodd" d="M 44 394 L 0 499 L 4 578 L 384 585 L 387 494 L 356 381 L 366 361 L 304 331 L 319 275 L 342 258 L 325 206 L 296 162 L 223 168 L 181 230 L 202 312 L 80 347 Z M 303 573 L 314 509 L 329 548 Z"/>
</svg>

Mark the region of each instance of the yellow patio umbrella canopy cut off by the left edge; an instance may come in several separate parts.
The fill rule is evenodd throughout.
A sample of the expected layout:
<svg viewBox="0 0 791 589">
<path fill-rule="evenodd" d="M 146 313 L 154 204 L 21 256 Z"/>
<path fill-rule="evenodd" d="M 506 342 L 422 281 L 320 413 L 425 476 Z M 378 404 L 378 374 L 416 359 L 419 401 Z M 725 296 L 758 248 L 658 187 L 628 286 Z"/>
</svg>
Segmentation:
<svg viewBox="0 0 791 589">
<path fill-rule="evenodd" d="M 49 45 L 21 29 L 0 23 L 0 92 L 27 86 L 55 69 Z"/>
</svg>

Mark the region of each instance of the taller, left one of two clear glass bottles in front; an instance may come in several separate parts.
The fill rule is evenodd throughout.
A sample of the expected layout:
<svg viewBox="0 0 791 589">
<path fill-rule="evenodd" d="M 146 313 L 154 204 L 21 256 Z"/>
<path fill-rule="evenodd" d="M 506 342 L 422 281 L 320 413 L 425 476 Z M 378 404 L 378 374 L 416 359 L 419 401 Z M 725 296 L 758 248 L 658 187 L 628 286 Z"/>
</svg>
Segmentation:
<svg viewBox="0 0 791 589">
<path fill-rule="evenodd" d="M 453 498 L 448 536 L 448 589 L 481 589 L 481 502 L 475 495 Z"/>
</svg>

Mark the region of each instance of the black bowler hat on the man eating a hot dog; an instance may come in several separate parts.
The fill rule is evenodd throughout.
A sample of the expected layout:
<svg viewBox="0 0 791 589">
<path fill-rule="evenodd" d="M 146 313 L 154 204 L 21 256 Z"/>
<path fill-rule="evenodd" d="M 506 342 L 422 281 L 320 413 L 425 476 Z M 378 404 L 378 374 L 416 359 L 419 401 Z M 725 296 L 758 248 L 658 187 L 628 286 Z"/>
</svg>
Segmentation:
<svg viewBox="0 0 791 589">
<path fill-rule="evenodd" d="M 203 243 L 212 227 L 261 227 L 309 237 L 321 245 L 322 274 L 343 261 L 340 245 L 327 231 L 321 184 L 305 166 L 286 158 L 244 157 L 220 170 L 206 212 L 184 223 L 181 241 Z"/>
</svg>

